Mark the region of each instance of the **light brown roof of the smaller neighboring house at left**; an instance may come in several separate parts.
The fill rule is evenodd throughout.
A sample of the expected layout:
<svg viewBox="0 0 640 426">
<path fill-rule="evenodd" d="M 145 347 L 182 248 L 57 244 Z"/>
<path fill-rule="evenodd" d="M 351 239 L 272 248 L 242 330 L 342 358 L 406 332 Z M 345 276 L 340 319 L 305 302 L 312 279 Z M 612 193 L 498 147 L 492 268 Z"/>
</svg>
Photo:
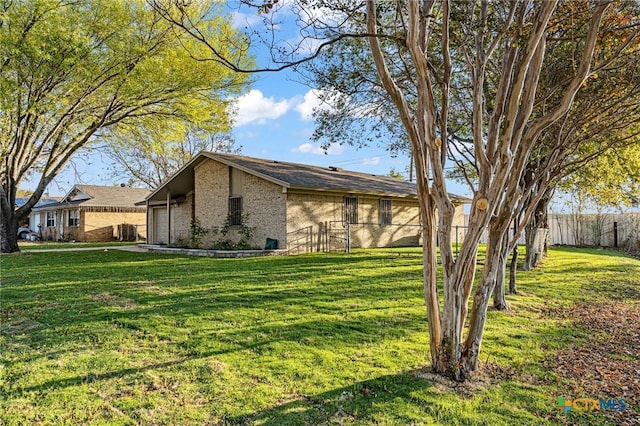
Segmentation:
<svg viewBox="0 0 640 426">
<path fill-rule="evenodd" d="M 126 186 L 74 185 L 62 200 L 38 209 L 48 210 L 70 205 L 134 208 L 137 202 L 144 200 L 150 193 L 149 189 Z"/>
</svg>

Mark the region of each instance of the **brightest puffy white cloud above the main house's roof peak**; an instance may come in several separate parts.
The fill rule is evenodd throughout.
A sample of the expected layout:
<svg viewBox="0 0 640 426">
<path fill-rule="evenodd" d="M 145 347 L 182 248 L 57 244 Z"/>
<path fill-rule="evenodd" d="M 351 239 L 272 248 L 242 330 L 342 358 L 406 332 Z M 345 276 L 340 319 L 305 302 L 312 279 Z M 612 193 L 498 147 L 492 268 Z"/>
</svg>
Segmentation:
<svg viewBox="0 0 640 426">
<path fill-rule="evenodd" d="M 294 102 L 288 99 L 276 101 L 273 97 L 265 98 L 259 90 L 252 90 L 236 101 L 236 127 L 247 124 L 266 124 L 286 114 Z"/>
</svg>

